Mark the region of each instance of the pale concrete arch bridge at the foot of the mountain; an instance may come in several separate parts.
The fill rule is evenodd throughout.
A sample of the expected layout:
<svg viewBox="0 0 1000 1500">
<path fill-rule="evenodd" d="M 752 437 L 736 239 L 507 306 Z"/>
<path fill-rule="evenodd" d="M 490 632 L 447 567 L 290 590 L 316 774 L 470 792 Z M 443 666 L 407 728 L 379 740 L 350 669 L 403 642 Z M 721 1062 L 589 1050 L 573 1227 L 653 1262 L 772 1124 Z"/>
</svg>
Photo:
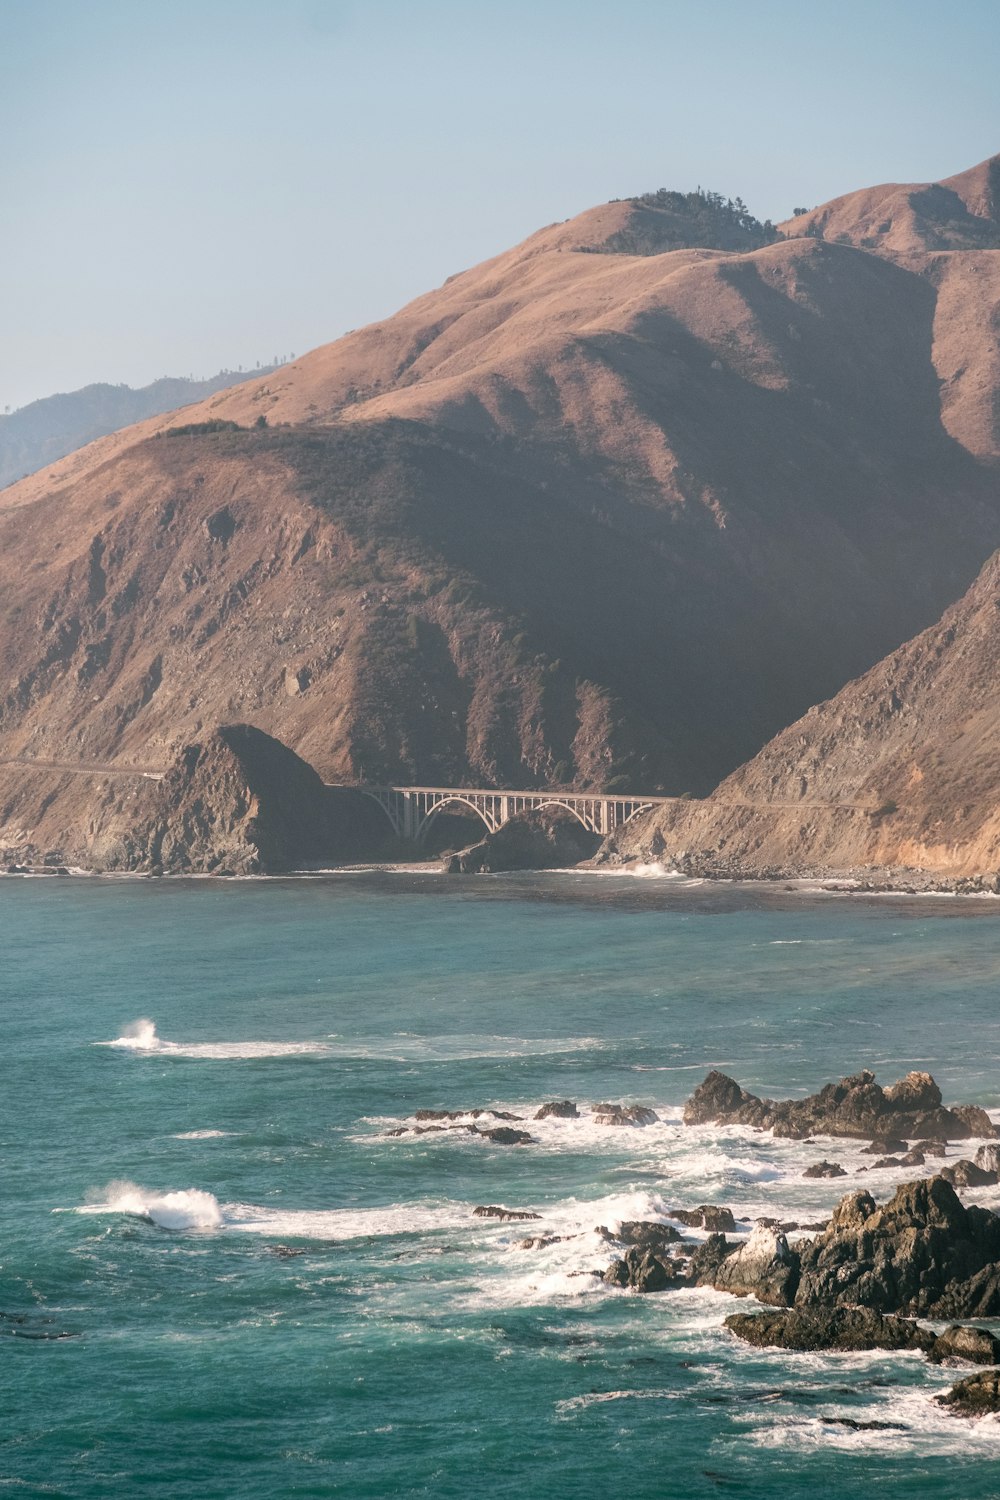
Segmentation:
<svg viewBox="0 0 1000 1500">
<path fill-rule="evenodd" d="M 400 838 L 420 843 L 435 818 L 451 808 L 472 812 L 487 832 L 496 832 L 516 813 L 541 807 L 562 807 L 594 834 L 613 832 L 636 813 L 673 801 L 669 796 L 604 796 L 591 792 L 496 792 L 456 786 L 357 786 L 357 792 L 378 802 Z"/>
</svg>

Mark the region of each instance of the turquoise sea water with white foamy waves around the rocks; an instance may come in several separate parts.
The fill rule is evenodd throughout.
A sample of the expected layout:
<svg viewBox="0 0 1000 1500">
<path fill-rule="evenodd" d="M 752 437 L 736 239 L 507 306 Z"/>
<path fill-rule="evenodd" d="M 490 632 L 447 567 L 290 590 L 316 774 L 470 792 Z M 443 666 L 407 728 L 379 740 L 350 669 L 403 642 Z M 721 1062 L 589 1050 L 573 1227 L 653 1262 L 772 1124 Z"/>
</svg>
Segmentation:
<svg viewBox="0 0 1000 1500">
<path fill-rule="evenodd" d="M 801 1172 L 853 1172 L 856 1148 L 685 1130 L 709 1066 L 774 1094 L 928 1066 L 1000 1108 L 999 982 L 990 902 L 3 880 L 0 1488 L 1000 1494 L 1000 1424 L 931 1400 L 951 1371 L 762 1354 L 720 1328 L 733 1299 L 591 1274 L 598 1224 L 703 1202 L 811 1220 L 850 1185 Z M 550 1098 L 582 1118 L 528 1124 L 528 1148 L 388 1134 Z M 601 1126 L 597 1100 L 660 1124 Z"/>
</svg>

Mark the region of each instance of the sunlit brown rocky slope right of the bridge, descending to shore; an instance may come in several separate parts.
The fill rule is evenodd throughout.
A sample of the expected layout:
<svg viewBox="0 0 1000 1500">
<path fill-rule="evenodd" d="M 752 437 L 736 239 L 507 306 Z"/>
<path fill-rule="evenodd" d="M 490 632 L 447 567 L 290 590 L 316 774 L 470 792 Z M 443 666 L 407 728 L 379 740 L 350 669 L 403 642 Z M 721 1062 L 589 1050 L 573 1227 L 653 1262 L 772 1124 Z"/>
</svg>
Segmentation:
<svg viewBox="0 0 1000 1500">
<path fill-rule="evenodd" d="M 732 874 L 1000 874 L 1000 554 L 937 626 L 777 735 L 628 856 Z"/>
</svg>

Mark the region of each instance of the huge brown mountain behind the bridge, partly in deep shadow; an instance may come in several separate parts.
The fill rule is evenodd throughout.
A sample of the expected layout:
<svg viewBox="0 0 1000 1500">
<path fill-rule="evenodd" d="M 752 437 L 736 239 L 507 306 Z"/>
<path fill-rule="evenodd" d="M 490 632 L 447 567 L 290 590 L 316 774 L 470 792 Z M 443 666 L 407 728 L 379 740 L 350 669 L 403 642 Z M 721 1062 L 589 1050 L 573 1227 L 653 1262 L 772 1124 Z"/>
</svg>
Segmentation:
<svg viewBox="0 0 1000 1500">
<path fill-rule="evenodd" d="M 1000 250 L 678 237 L 591 210 L 3 490 L 0 754 L 702 794 L 928 626 L 1000 546 Z"/>
</svg>

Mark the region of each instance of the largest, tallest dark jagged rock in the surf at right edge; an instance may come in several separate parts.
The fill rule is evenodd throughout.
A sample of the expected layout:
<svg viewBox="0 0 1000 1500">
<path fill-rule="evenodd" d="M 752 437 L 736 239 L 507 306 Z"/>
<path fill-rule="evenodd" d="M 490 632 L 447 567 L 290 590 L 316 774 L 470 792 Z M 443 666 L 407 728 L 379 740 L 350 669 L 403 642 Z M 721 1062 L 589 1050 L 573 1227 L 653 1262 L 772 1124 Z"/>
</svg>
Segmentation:
<svg viewBox="0 0 1000 1500">
<path fill-rule="evenodd" d="M 900 1186 L 883 1208 L 852 1192 L 798 1246 L 796 1306 L 858 1304 L 927 1317 L 1000 1314 L 1000 1218 L 964 1208 L 943 1178 Z"/>
</svg>

